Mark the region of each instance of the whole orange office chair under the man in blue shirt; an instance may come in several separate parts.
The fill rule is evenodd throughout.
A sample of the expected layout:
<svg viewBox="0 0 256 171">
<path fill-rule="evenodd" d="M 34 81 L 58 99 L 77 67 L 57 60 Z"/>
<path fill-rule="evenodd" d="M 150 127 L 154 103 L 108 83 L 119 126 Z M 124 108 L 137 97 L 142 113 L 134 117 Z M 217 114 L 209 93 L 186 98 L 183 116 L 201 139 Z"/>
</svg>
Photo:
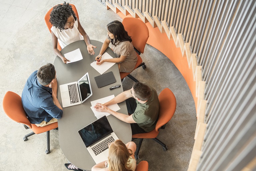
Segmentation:
<svg viewBox="0 0 256 171">
<path fill-rule="evenodd" d="M 57 128 L 58 122 L 46 125 L 44 127 L 37 127 L 35 124 L 31 124 L 22 106 L 21 97 L 11 91 L 8 91 L 4 96 L 3 109 L 9 118 L 18 123 L 24 124 L 24 127 L 26 129 L 32 129 L 33 132 L 24 136 L 24 141 L 27 141 L 28 137 L 30 137 L 31 135 L 47 132 L 47 150 L 45 151 L 45 153 L 50 153 L 50 130 Z"/>
</svg>

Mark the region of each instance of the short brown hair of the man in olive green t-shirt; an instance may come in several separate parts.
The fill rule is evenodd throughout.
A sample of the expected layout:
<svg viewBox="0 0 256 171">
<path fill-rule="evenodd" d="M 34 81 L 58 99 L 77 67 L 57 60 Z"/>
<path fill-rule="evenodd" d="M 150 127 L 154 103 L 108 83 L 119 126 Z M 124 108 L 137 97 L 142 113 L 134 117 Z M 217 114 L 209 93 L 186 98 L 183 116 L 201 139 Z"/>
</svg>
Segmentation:
<svg viewBox="0 0 256 171">
<path fill-rule="evenodd" d="M 144 83 L 137 82 L 133 86 L 134 96 L 142 101 L 146 101 L 151 97 L 151 89 Z"/>
</svg>

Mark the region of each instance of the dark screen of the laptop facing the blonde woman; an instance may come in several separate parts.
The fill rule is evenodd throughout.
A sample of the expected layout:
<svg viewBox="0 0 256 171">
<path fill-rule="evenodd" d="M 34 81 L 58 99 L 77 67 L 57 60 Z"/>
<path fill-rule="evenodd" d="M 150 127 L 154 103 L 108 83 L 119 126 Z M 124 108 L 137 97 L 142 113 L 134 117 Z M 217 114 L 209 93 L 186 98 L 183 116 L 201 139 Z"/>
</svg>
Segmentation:
<svg viewBox="0 0 256 171">
<path fill-rule="evenodd" d="M 106 116 L 87 125 L 78 133 L 81 136 L 86 148 L 97 143 L 113 132 Z"/>
</svg>

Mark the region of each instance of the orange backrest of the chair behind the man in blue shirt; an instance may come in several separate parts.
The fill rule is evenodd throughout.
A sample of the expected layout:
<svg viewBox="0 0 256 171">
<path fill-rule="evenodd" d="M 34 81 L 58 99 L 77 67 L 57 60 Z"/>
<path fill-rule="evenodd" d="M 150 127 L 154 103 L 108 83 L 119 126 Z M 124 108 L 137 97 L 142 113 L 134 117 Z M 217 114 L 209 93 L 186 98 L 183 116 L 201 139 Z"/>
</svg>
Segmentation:
<svg viewBox="0 0 256 171">
<path fill-rule="evenodd" d="M 25 110 L 22 106 L 21 97 L 18 94 L 8 91 L 4 95 L 3 109 L 7 116 L 9 116 L 9 118 L 12 120 L 23 123 L 32 128 L 31 123 L 29 122 Z"/>
</svg>

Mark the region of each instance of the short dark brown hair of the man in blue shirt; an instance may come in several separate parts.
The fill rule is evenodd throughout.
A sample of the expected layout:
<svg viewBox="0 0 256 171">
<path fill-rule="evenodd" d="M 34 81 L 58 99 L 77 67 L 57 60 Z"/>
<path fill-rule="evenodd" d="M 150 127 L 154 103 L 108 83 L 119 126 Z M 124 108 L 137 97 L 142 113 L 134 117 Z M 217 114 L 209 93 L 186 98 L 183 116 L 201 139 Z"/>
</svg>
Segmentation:
<svg viewBox="0 0 256 171">
<path fill-rule="evenodd" d="M 37 71 L 37 79 L 41 85 L 48 85 L 55 78 L 55 67 L 53 64 L 48 63 Z"/>
</svg>

